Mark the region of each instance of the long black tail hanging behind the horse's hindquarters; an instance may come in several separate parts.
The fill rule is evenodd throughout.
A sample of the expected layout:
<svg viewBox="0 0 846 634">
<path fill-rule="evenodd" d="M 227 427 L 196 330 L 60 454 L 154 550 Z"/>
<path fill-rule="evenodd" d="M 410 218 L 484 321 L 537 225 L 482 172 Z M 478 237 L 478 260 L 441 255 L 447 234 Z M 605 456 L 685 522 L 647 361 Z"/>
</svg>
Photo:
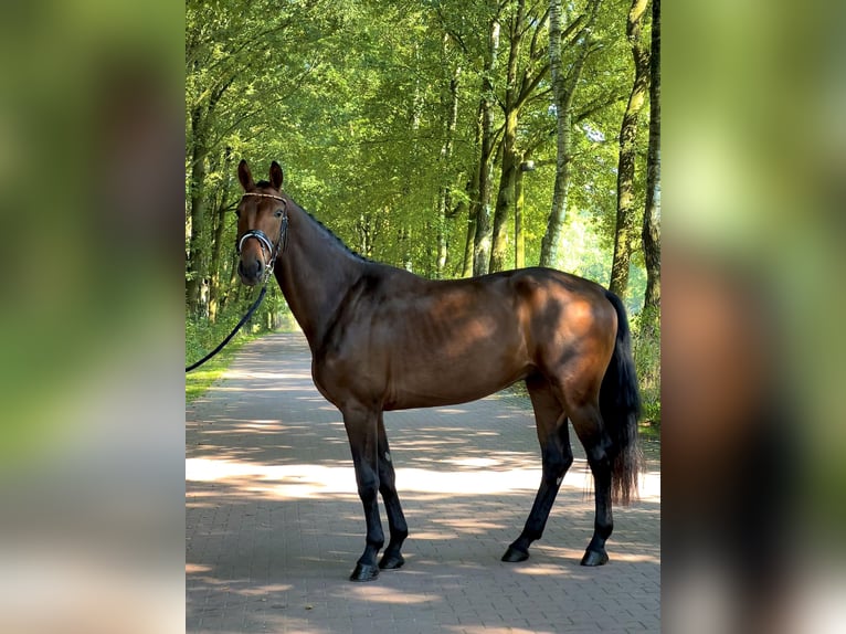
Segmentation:
<svg viewBox="0 0 846 634">
<path fill-rule="evenodd" d="M 612 459 L 611 496 L 614 501 L 627 505 L 632 497 L 637 497 L 637 477 L 643 462 L 637 443 L 641 394 L 625 307 L 610 290 L 605 292 L 605 297 L 617 311 L 617 336 L 614 355 L 600 388 L 600 411 L 612 443 L 609 452 Z"/>
</svg>

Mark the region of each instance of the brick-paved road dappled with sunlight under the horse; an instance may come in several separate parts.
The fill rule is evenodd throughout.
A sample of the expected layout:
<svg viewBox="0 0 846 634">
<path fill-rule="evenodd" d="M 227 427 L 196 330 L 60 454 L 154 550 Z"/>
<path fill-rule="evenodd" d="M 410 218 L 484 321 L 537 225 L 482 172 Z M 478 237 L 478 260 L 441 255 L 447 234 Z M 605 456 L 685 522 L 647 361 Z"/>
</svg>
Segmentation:
<svg viewBox="0 0 846 634">
<path fill-rule="evenodd" d="M 642 500 L 614 509 L 607 566 L 579 566 L 593 525 L 580 457 L 531 558 L 499 561 L 540 482 L 516 397 L 385 415 L 406 563 L 347 581 L 364 520 L 340 414 L 309 368 L 302 336 L 262 338 L 187 410 L 187 632 L 659 631 L 657 465 Z"/>
</svg>

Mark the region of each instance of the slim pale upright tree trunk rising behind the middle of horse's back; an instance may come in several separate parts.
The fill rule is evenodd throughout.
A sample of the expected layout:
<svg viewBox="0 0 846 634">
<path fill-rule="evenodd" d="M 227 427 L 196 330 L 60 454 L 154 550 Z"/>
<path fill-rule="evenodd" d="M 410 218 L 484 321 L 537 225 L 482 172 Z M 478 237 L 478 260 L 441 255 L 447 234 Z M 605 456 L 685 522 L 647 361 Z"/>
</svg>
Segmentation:
<svg viewBox="0 0 846 634">
<path fill-rule="evenodd" d="M 479 202 L 476 210 L 476 232 L 473 237 L 473 274 L 488 272 L 490 261 L 490 199 L 494 170 L 494 73 L 499 50 L 499 17 L 490 22 L 485 72 L 482 78 L 482 152 L 479 157 Z"/>
</svg>

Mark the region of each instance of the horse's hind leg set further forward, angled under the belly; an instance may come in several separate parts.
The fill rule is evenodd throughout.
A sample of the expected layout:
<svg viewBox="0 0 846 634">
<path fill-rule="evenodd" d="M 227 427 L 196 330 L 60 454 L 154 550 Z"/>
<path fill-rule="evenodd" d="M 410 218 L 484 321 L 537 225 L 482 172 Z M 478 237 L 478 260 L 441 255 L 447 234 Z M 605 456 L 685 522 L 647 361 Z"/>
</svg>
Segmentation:
<svg viewBox="0 0 846 634">
<path fill-rule="evenodd" d="M 533 376 L 526 380 L 526 387 L 529 389 L 535 409 L 543 475 L 526 526 L 520 537 L 508 547 L 503 561 L 525 561 L 529 558 L 529 546 L 543 535 L 558 489 L 561 487 L 567 469 L 573 463 L 564 409 L 556 398 L 551 385 L 543 377 Z"/>
</svg>

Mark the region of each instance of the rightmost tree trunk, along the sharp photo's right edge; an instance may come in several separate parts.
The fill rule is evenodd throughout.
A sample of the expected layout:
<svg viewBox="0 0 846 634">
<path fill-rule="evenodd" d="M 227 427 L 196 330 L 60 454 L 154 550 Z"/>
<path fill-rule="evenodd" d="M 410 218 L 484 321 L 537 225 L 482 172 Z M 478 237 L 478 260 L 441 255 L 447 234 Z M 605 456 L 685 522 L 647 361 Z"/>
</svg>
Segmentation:
<svg viewBox="0 0 846 634">
<path fill-rule="evenodd" d="M 646 263 L 646 320 L 657 326 L 660 311 L 660 0 L 652 4 L 649 83 L 649 151 L 646 157 L 646 208 L 643 215 L 643 252 Z M 644 324 L 644 327 L 647 327 Z"/>
</svg>

